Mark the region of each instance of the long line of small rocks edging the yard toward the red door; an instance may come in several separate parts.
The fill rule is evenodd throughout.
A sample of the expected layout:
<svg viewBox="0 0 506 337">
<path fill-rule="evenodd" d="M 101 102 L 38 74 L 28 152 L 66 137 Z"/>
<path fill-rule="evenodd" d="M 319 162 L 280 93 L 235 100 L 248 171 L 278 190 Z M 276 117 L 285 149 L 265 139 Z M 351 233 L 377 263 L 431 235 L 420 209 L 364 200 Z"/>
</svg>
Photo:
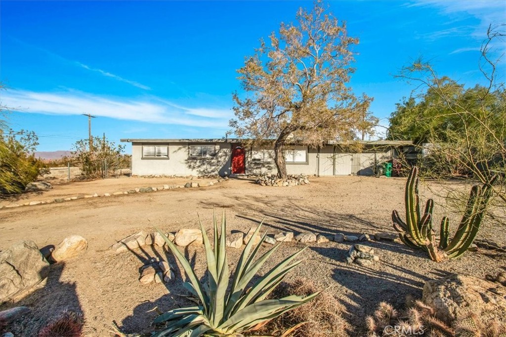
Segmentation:
<svg viewBox="0 0 506 337">
<path fill-rule="evenodd" d="M 67 197 L 67 198 L 56 198 L 56 199 L 47 200 L 47 201 L 34 200 L 34 201 L 29 201 L 29 202 L 26 202 L 23 204 L 12 204 L 12 205 L 7 205 L 7 206 L 0 205 L 0 209 L 16 208 L 16 207 L 21 207 L 21 206 L 36 206 L 36 205 L 45 205 L 45 204 L 53 204 L 53 203 L 63 203 L 63 202 L 67 202 L 67 201 L 77 200 L 77 199 L 104 198 L 104 197 L 111 197 L 111 196 L 122 196 L 122 195 L 128 195 L 128 194 L 136 194 L 136 193 L 156 192 L 156 191 L 161 191 L 161 190 L 169 190 L 169 189 L 177 189 L 177 188 L 208 187 L 208 186 L 213 186 L 217 183 L 220 183 L 220 182 L 223 182 L 226 180 L 228 180 L 228 177 L 218 178 L 216 180 L 209 181 L 205 185 L 201 185 L 200 183 L 195 182 L 195 181 L 189 181 L 184 185 L 167 185 L 167 184 L 165 184 L 161 187 L 155 187 L 155 186 L 136 187 L 136 188 L 132 188 L 132 189 L 125 190 L 125 191 L 104 193 L 103 195 L 99 195 L 99 194 L 95 193 L 93 195 L 91 195 L 91 194 L 90 195 L 79 195 L 79 196 L 73 196 L 73 197 Z"/>
</svg>

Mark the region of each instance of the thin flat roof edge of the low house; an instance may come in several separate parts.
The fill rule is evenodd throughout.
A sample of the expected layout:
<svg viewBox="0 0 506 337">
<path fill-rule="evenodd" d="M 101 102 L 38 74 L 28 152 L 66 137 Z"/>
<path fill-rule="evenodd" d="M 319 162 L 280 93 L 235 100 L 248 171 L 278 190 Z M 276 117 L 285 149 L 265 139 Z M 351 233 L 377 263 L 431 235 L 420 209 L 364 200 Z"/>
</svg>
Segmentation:
<svg viewBox="0 0 506 337">
<path fill-rule="evenodd" d="M 249 139 L 241 138 L 186 138 L 186 139 L 164 139 L 164 138 L 121 138 L 121 142 L 129 143 L 218 143 L 218 142 L 229 142 L 237 143 Z M 293 140 L 289 139 L 288 141 Z M 272 139 L 274 141 L 274 139 Z M 406 146 L 412 145 L 411 140 L 355 140 L 355 141 L 341 141 L 341 140 L 328 140 L 327 145 L 346 145 L 354 142 L 361 143 L 363 145 L 376 145 L 376 146 Z"/>
</svg>

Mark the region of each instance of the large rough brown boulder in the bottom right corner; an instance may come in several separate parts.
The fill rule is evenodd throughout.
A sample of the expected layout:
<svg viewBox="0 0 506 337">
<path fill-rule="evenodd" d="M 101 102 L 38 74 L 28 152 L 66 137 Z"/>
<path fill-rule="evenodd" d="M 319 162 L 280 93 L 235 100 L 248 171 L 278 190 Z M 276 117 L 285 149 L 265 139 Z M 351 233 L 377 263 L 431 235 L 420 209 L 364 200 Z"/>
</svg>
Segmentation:
<svg viewBox="0 0 506 337">
<path fill-rule="evenodd" d="M 447 322 L 469 316 L 485 320 L 498 318 L 506 324 L 506 287 L 478 277 L 452 274 L 429 280 L 422 300 L 436 310 L 436 317 Z"/>
</svg>

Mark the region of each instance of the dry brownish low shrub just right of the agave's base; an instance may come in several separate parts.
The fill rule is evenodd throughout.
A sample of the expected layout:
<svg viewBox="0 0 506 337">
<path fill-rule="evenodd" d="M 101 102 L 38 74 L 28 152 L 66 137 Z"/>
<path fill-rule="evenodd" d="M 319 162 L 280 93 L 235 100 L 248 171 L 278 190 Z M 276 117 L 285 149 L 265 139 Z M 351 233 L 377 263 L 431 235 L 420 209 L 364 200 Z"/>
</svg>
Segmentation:
<svg viewBox="0 0 506 337">
<path fill-rule="evenodd" d="M 271 296 L 281 298 L 289 295 L 307 296 L 316 292 L 313 282 L 297 279 L 279 284 Z M 297 307 L 271 320 L 259 332 L 265 335 L 281 335 L 291 326 L 301 324 L 292 337 L 347 337 L 351 325 L 341 316 L 344 308 L 338 299 L 328 292 L 321 293 L 313 301 Z"/>
</svg>

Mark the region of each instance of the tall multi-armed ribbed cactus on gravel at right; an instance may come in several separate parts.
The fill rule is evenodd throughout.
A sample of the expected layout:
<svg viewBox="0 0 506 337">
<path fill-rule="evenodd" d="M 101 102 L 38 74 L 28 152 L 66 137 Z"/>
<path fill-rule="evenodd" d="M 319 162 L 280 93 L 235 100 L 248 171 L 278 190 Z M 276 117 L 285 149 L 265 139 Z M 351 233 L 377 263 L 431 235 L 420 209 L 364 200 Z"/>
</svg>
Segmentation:
<svg viewBox="0 0 506 337">
<path fill-rule="evenodd" d="M 449 238 L 449 220 L 443 217 L 440 223 L 439 244 L 432 227 L 434 202 L 429 199 L 424 215 L 420 214 L 418 198 L 418 169 L 413 167 L 409 172 L 405 189 L 406 222 L 402 221 L 397 211 L 392 212 L 394 229 L 399 232 L 402 242 L 413 249 L 424 249 L 431 260 L 441 262 L 447 258 L 456 258 L 465 253 L 473 243 L 480 229 L 488 201 L 492 196 L 492 185 L 497 180 L 494 176 L 490 185 L 475 185 L 471 189 L 466 210 L 460 220 L 455 235 Z"/>
</svg>

